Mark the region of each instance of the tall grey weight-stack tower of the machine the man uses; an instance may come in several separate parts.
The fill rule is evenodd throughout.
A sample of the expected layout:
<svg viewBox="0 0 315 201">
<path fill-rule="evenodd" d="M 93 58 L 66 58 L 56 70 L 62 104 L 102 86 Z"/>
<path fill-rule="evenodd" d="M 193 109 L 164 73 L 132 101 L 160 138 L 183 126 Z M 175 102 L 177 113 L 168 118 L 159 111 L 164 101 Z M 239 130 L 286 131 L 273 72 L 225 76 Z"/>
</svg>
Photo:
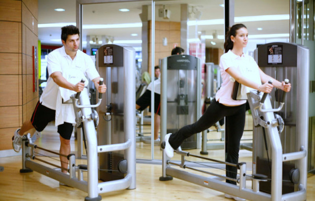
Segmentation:
<svg viewBox="0 0 315 201">
<path fill-rule="evenodd" d="M 107 87 L 98 108 L 98 142 L 108 146 L 99 154 L 100 179 L 117 183 L 116 189 L 135 189 L 135 50 L 129 46 L 103 45 L 97 52 L 97 67 L 100 75 L 106 78 Z M 118 182 L 120 180 L 125 182 Z M 108 192 L 111 188 L 103 191 Z"/>
</svg>

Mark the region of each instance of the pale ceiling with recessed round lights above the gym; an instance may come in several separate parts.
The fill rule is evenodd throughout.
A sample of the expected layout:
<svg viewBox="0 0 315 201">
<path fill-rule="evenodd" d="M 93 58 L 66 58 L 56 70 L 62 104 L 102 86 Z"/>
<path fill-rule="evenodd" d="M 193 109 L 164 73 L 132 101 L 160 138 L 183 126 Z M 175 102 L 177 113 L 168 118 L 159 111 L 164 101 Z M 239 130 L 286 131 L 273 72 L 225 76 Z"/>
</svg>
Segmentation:
<svg viewBox="0 0 315 201">
<path fill-rule="evenodd" d="M 190 25 L 188 26 L 188 38 L 193 41 L 202 33 L 205 35 L 207 46 L 222 48 L 224 43 L 224 7 L 220 6 L 220 4 L 223 3 L 224 0 L 156 1 L 155 20 L 179 22 L 180 4 L 188 4 L 189 12 L 191 13 L 188 21 Z M 83 47 L 89 42 L 87 41 L 87 36 L 90 36 L 90 40 L 92 38 L 102 40 L 102 36 L 103 40 L 105 39 L 104 36 L 107 36 L 107 38 L 111 37 L 114 43 L 119 42 L 119 40 L 128 40 L 134 47 L 140 47 L 141 19 L 139 14 L 142 13 L 142 5 L 148 5 L 150 20 L 150 0 L 83 5 L 83 30 L 81 33 Z M 38 0 L 38 39 L 41 40 L 42 44 L 62 44 L 60 40 L 60 28 L 62 25 L 53 26 L 56 25 L 55 23 L 75 24 L 75 7 L 76 0 Z M 163 7 L 171 11 L 170 19 L 163 19 L 158 16 L 158 9 Z M 58 12 L 54 10 L 55 8 L 63 8 L 65 11 Z M 121 12 L 119 11 L 120 8 L 128 8 L 130 11 Z M 199 13 L 200 18 L 197 21 L 196 16 L 198 17 L 198 14 L 194 13 Z M 245 24 L 249 37 L 252 35 L 254 38 L 269 39 L 271 37 L 270 34 L 284 34 L 282 38 L 288 38 L 288 15 L 289 0 L 235 0 L 235 23 Z M 44 27 L 45 24 L 51 25 Z M 87 28 L 88 25 L 98 25 L 103 28 L 95 28 L 95 26 Z M 121 27 L 123 28 L 104 28 L 106 25 L 118 27 L 122 25 Z M 126 28 L 126 26 L 130 25 L 133 27 Z M 262 28 L 262 30 L 257 30 L 257 28 Z M 213 33 L 216 33 L 218 37 L 210 39 L 213 38 Z M 131 36 L 131 34 L 137 34 L 138 36 Z M 266 35 L 265 38 L 263 35 Z"/>
</svg>

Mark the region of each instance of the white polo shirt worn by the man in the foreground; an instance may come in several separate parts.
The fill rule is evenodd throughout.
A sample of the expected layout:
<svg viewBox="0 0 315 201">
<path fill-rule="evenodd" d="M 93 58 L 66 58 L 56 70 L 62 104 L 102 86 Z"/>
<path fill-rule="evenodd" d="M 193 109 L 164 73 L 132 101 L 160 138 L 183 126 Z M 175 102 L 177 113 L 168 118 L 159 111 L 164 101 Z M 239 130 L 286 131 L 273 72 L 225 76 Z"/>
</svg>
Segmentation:
<svg viewBox="0 0 315 201">
<path fill-rule="evenodd" d="M 93 80 L 100 77 L 90 56 L 77 50 L 74 59 L 66 53 L 65 46 L 62 46 L 48 54 L 47 68 L 49 78 L 47 86 L 44 88 L 39 101 L 42 105 L 56 110 L 57 94 L 59 86 L 54 82 L 50 75 L 54 72 L 63 72 L 63 69 L 73 68 L 81 71 L 88 79 Z"/>
</svg>

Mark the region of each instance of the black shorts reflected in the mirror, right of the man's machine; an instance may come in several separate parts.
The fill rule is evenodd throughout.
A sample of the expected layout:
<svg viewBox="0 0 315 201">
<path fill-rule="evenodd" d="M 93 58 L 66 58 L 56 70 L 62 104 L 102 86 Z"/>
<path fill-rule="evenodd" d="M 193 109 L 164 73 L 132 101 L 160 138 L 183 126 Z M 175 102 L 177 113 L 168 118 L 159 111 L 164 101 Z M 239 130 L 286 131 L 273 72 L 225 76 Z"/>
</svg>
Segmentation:
<svg viewBox="0 0 315 201">
<path fill-rule="evenodd" d="M 150 106 L 149 111 L 151 112 L 151 91 L 145 90 L 145 92 L 138 98 L 136 104 L 140 106 L 139 110 L 142 111 L 146 107 Z M 160 94 L 154 93 L 154 113 L 160 115 Z"/>
</svg>

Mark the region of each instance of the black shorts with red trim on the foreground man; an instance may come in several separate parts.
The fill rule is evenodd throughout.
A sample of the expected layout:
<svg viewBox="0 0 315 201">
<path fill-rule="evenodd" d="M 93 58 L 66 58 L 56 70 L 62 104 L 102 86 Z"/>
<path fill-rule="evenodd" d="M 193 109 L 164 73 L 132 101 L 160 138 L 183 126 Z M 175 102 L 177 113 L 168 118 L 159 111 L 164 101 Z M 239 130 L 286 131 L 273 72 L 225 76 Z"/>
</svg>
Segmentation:
<svg viewBox="0 0 315 201">
<path fill-rule="evenodd" d="M 50 121 L 55 121 L 56 111 L 43 106 L 39 101 L 36 104 L 31 122 L 38 132 L 41 132 Z M 65 139 L 70 140 L 73 131 L 72 123 L 64 122 L 58 125 L 58 133 Z"/>
</svg>

